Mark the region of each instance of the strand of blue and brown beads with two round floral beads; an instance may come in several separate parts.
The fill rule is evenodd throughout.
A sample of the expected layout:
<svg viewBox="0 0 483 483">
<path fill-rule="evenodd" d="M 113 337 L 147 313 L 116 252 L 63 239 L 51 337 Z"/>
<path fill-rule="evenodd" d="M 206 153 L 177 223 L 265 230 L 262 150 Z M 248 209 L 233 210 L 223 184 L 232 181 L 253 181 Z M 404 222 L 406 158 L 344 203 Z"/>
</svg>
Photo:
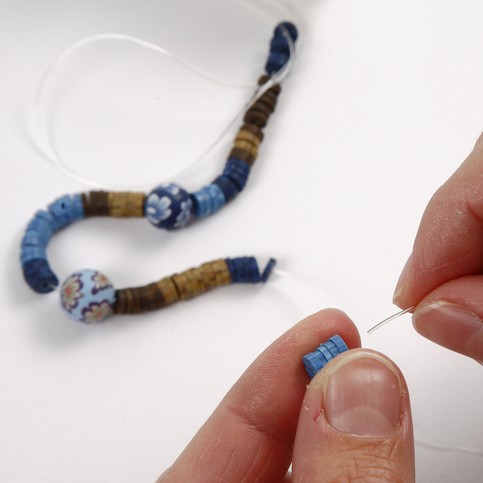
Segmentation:
<svg viewBox="0 0 483 483">
<path fill-rule="evenodd" d="M 258 85 L 272 79 L 286 66 L 291 45 L 297 40 L 296 27 L 279 24 L 270 43 L 266 75 Z M 38 211 L 29 222 L 21 242 L 20 261 L 27 284 L 37 293 L 52 292 L 59 280 L 47 260 L 47 245 L 57 231 L 71 223 L 93 216 L 115 218 L 146 217 L 157 228 L 175 230 L 190 220 L 219 211 L 246 185 L 260 143 L 262 129 L 275 110 L 281 87 L 273 84 L 245 112 L 244 124 L 236 135 L 223 173 L 199 191 L 188 193 L 174 183 L 157 186 L 149 194 L 90 191 L 65 195 Z M 62 307 L 81 322 L 98 322 L 110 313 L 136 314 L 186 300 L 214 287 L 230 283 L 265 282 L 275 265 L 270 259 L 260 272 L 253 257 L 227 258 L 163 278 L 143 287 L 115 290 L 109 279 L 97 270 L 80 270 L 61 286 Z"/>
</svg>

